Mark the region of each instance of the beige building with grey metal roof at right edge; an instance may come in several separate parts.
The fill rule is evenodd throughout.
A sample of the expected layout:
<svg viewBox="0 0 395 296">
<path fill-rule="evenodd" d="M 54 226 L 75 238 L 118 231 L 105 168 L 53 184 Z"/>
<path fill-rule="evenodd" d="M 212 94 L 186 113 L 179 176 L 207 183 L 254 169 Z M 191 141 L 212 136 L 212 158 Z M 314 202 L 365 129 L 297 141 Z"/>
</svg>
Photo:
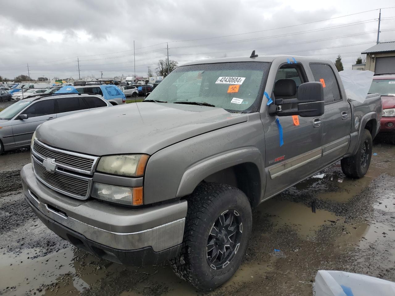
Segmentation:
<svg viewBox="0 0 395 296">
<path fill-rule="evenodd" d="M 366 70 L 375 74 L 395 73 L 395 41 L 378 43 L 361 54 L 366 54 Z"/>
</svg>

